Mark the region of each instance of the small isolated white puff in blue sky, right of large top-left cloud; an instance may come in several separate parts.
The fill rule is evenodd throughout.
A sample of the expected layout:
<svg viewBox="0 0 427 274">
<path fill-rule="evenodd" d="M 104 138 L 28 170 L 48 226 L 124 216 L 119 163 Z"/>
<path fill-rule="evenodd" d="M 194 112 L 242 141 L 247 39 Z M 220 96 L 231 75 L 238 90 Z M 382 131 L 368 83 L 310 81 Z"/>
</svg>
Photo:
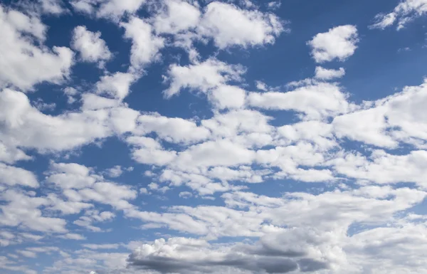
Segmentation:
<svg viewBox="0 0 427 274">
<path fill-rule="evenodd" d="M 112 58 L 112 54 L 100 36 L 100 31 L 92 32 L 88 31 L 86 26 L 76 26 L 73 31 L 71 46 L 75 51 L 80 52 L 83 61 L 109 60 Z"/>
</svg>

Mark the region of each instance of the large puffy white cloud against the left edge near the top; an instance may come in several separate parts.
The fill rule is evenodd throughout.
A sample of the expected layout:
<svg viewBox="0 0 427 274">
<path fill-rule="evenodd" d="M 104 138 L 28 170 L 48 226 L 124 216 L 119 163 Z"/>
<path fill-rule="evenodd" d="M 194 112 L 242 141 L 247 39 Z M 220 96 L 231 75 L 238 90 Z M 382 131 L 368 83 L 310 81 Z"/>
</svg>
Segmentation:
<svg viewBox="0 0 427 274">
<path fill-rule="evenodd" d="M 7 53 L 0 60 L 0 88 L 32 90 L 37 83 L 61 83 L 70 75 L 73 51 L 44 46 L 46 26 L 38 17 L 0 6 L 0 32 L 0 51 Z"/>
</svg>

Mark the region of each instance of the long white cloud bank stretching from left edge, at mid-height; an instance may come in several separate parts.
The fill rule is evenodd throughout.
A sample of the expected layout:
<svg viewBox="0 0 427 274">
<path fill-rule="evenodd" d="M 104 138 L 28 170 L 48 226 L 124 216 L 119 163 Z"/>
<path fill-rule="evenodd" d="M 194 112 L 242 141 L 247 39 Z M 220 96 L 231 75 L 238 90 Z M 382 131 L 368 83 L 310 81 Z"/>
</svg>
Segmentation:
<svg viewBox="0 0 427 274">
<path fill-rule="evenodd" d="M 4 144 L 35 148 L 39 152 L 73 149 L 95 139 L 132 130 L 138 113 L 126 107 L 115 107 L 45 115 L 31 106 L 25 94 L 10 89 L 0 92 L 0 107 L 3 110 L 0 121 L 4 123 L 0 139 Z"/>
</svg>

